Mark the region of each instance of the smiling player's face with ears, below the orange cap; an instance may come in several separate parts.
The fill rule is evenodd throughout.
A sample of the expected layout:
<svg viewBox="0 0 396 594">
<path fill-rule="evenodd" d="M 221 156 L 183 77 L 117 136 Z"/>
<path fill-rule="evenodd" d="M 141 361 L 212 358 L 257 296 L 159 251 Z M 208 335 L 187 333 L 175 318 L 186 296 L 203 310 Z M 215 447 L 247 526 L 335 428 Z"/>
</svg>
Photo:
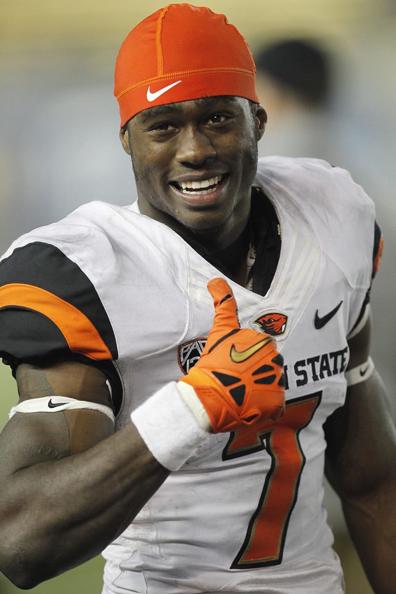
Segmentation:
<svg viewBox="0 0 396 594">
<path fill-rule="evenodd" d="M 132 156 L 142 212 L 180 233 L 206 231 L 220 243 L 239 235 L 266 119 L 263 108 L 230 96 L 151 108 L 130 119 L 121 141 Z"/>
</svg>

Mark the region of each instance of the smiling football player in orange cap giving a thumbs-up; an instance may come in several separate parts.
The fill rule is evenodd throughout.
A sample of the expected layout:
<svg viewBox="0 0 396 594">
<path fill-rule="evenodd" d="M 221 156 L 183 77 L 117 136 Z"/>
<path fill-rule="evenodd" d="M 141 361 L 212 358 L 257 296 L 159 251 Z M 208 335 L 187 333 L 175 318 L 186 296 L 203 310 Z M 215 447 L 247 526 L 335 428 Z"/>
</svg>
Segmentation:
<svg viewBox="0 0 396 594">
<path fill-rule="evenodd" d="M 394 592 L 375 209 L 324 161 L 258 163 L 254 81 L 224 15 L 147 17 L 115 74 L 137 202 L 85 204 L 0 260 L 20 396 L 0 570 L 19 587 L 103 551 L 103 594 L 341 594 L 326 467 L 374 591 Z"/>
</svg>

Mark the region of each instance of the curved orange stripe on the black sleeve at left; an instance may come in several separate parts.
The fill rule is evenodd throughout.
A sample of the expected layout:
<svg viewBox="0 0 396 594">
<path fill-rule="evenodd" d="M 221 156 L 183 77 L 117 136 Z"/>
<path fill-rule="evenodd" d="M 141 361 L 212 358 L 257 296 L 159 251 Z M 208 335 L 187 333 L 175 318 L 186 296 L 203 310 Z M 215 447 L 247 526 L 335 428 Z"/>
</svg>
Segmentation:
<svg viewBox="0 0 396 594">
<path fill-rule="evenodd" d="M 69 349 L 90 359 L 112 359 L 112 355 L 90 320 L 74 305 L 45 289 L 24 283 L 0 287 L 0 308 L 23 307 L 45 315 L 59 328 Z"/>
</svg>

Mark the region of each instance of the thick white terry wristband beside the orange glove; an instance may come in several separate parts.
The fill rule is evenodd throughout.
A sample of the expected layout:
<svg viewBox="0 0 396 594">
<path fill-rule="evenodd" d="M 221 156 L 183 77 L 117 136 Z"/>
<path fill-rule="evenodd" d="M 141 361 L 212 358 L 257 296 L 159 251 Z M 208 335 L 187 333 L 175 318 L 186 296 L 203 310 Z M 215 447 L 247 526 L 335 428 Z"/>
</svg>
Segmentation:
<svg viewBox="0 0 396 594">
<path fill-rule="evenodd" d="M 131 420 L 154 458 L 168 470 L 179 470 L 208 437 L 180 397 L 176 381 L 138 406 Z"/>
</svg>

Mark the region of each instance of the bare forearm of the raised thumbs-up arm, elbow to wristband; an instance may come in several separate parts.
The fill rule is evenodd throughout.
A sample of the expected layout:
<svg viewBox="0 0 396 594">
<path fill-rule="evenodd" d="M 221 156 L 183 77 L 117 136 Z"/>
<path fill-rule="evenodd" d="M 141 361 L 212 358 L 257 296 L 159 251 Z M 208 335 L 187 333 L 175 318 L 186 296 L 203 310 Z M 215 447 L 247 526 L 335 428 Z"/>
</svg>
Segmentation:
<svg viewBox="0 0 396 594">
<path fill-rule="evenodd" d="M 169 471 L 132 423 L 87 451 L 17 470 L 1 494 L 1 570 L 33 587 L 99 554 Z"/>
</svg>

